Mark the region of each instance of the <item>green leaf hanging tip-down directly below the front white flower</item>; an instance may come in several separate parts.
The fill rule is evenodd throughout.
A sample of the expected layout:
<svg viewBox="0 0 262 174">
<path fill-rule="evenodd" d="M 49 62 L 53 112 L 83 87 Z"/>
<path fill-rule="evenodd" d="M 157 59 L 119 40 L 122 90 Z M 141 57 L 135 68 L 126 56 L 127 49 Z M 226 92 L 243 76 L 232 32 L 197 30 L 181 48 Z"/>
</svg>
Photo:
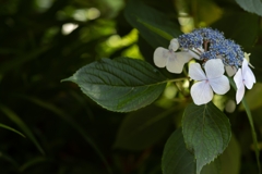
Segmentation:
<svg viewBox="0 0 262 174">
<path fill-rule="evenodd" d="M 186 108 L 182 133 L 187 148 L 195 156 L 196 174 L 223 153 L 231 137 L 229 120 L 212 102 Z"/>
</svg>

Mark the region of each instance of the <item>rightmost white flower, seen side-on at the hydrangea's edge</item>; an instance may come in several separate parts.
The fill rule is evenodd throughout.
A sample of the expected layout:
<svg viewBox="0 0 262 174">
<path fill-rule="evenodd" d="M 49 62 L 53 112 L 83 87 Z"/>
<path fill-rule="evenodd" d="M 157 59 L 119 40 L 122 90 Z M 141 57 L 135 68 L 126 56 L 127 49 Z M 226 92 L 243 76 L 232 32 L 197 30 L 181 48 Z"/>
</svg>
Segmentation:
<svg viewBox="0 0 262 174">
<path fill-rule="evenodd" d="M 243 59 L 242 67 L 238 69 L 236 75 L 234 76 L 234 82 L 237 86 L 236 100 L 237 103 L 239 103 L 245 95 L 245 86 L 248 89 L 251 89 L 255 83 L 253 72 L 249 69 L 248 61 L 246 59 Z"/>
</svg>

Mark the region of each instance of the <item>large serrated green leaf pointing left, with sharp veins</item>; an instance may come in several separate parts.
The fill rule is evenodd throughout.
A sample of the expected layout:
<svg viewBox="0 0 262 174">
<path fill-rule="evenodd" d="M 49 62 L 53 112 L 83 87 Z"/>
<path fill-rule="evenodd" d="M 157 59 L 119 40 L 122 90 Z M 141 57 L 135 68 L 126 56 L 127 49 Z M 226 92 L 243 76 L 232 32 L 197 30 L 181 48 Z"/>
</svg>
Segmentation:
<svg viewBox="0 0 262 174">
<path fill-rule="evenodd" d="M 151 104 L 166 86 L 166 78 L 152 65 L 128 58 L 102 59 L 64 80 L 78 84 L 95 102 L 116 112 Z"/>
</svg>

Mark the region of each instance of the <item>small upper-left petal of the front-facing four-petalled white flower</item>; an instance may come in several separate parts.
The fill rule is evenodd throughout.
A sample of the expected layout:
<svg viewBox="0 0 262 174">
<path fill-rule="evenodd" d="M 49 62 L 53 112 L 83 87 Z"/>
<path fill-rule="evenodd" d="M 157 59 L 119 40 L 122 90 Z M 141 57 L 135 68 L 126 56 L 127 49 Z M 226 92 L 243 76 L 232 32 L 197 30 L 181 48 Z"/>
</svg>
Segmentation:
<svg viewBox="0 0 262 174">
<path fill-rule="evenodd" d="M 206 76 L 199 63 L 192 63 L 189 65 L 189 76 L 195 80 L 205 80 Z"/>
</svg>

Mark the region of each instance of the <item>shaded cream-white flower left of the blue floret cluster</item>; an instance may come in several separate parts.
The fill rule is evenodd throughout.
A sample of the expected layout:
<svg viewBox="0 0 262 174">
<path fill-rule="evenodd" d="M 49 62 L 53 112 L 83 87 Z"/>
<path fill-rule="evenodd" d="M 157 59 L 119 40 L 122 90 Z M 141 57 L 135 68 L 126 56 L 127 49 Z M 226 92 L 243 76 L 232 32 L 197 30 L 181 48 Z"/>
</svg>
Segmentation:
<svg viewBox="0 0 262 174">
<path fill-rule="evenodd" d="M 184 63 L 192 59 L 192 55 L 188 51 L 177 51 L 179 42 L 177 39 L 172 39 L 169 45 L 169 49 L 158 47 L 154 52 L 154 63 L 158 67 L 165 67 L 170 73 L 181 73 Z"/>
</svg>

